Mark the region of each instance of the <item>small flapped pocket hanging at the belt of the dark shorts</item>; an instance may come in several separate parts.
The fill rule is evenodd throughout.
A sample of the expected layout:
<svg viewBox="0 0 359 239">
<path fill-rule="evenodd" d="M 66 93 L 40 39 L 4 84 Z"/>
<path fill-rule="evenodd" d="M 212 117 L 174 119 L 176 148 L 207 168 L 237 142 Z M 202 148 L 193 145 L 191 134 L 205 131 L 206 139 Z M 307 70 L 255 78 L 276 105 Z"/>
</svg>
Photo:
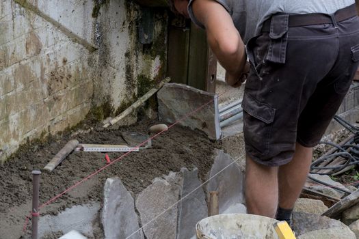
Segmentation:
<svg viewBox="0 0 359 239">
<path fill-rule="evenodd" d="M 269 38 L 271 44 L 269 45 L 267 61 L 284 64 L 287 56 L 288 44 L 288 23 L 289 14 L 274 15 L 271 18 L 271 27 Z"/>
</svg>

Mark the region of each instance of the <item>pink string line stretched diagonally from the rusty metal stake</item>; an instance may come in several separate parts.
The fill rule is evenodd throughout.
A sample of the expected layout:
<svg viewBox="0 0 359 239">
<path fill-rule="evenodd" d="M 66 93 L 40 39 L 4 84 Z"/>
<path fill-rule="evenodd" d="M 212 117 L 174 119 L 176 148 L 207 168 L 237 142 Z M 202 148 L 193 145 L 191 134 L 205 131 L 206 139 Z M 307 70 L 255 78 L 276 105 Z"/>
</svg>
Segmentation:
<svg viewBox="0 0 359 239">
<path fill-rule="evenodd" d="M 228 92 L 228 91 L 226 91 Z M 201 109 L 203 109 L 204 107 L 206 107 L 208 104 L 210 104 L 211 102 L 213 102 L 216 98 L 220 98 L 220 96 L 226 94 L 226 92 L 223 92 L 222 94 L 218 94 L 217 96 L 215 96 L 212 100 L 210 100 L 209 102 L 207 102 L 206 104 L 201 105 L 200 107 L 198 107 L 197 109 L 194 109 L 193 111 L 190 111 L 189 113 L 187 113 L 185 116 L 181 117 L 180 119 L 178 119 L 176 122 L 174 122 L 173 124 L 171 124 L 170 126 L 168 126 L 168 129 L 162 130 L 161 132 L 158 132 L 156 135 L 153 135 L 152 137 L 146 139 L 146 141 L 140 143 L 139 145 L 137 145 L 136 147 L 133 147 L 133 149 L 131 149 L 129 152 L 126 152 L 125 154 L 123 154 L 122 156 L 116 158 L 115 160 L 112 160 L 111 163 L 108 163 L 107 165 L 101 167 L 100 169 L 98 169 L 97 171 L 94 171 L 94 173 L 91 173 L 90 175 L 88 175 L 87 177 L 83 178 L 82 180 L 80 180 L 79 182 L 77 182 L 76 184 L 70 186 L 69 188 L 67 188 L 65 191 L 63 191 L 62 193 L 59 193 L 58 195 L 56 195 L 55 197 L 51 198 L 49 201 L 46 201 L 45 203 L 43 203 L 42 205 L 40 205 L 38 207 L 38 210 L 40 210 L 40 208 L 43 208 L 44 206 L 49 205 L 50 203 L 52 203 L 53 201 L 55 201 L 56 199 L 58 199 L 59 197 L 61 197 L 62 195 L 64 195 L 65 193 L 67 193 L 68 191 L 72 190 L 73 188 L 76 188 L 77 186 L 79 186 L 80 184 L 82 184 L 83 182 L 85 182 L 86 180 L 92 178 L 94 175 L 100 173 L 101 171 L 103 171 L 104 169 L 106 169 L 107 167 L 113 165 L 114 163 L 118 162 L 119 160 L 121 160 L 122 158 L 124 158 L 125 156 L 131 154 L 131 152 L 139 149 L 139 147 L 141 147 L 142 145 L 146 144 L 148 141 L 151 141 L 152 139 L 155 139 L 157 136 L 161 135 L 163 132 L 169 130 L 170 128 L 172 128 L 173 126 L 175 126 L 176 124 L 184 121 L 185 119 L 187 119 L 187 117 L 193 115 L 194 113 L 200 111 Z M 40 215 L 40 213 L 38 213 Z M 29 223 L 29 218 L 31 216 L 31 213 L 26 216 L 26 221 L 23 227 L 23 231 L 26 230 L 27 228 L 27 224 Z"/>
</svg>

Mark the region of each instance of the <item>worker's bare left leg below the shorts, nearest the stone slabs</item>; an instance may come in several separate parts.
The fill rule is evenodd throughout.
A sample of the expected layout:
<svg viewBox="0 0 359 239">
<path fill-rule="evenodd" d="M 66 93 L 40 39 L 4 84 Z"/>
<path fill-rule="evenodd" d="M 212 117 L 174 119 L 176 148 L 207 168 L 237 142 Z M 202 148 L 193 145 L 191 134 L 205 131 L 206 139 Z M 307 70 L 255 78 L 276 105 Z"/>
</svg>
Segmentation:
<svg viewBox="0 0 359 239">
<path fill-rule="evenodd" d="M 278 206 L 278 167 L 260 165 L 247 156 L 245 168 L 248 213 L 274 218 Z"/>
</svg>

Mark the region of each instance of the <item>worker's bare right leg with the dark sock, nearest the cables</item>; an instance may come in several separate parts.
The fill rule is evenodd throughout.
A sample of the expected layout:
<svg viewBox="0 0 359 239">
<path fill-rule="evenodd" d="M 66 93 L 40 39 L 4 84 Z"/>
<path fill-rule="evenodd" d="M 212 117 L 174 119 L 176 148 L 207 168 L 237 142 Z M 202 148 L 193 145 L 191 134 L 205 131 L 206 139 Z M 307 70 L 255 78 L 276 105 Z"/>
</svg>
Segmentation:
<svg viewBox="0 0 359 239">
<path fill-rule="evenodd" d="M 295 154 L 291 162 L 282 165 L 278 170 L 279 206 L 291 209 L 294 207 L 309 173 L 313 149 L 295 144 Z"/>
</svg>

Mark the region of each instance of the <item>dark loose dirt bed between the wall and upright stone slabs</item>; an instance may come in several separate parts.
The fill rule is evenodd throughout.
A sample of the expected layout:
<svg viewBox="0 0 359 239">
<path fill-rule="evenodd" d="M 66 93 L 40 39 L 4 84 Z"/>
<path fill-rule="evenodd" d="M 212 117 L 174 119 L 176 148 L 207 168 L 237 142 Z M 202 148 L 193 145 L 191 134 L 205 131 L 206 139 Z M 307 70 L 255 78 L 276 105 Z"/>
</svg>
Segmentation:
<svg viewBox="0 0 359 239">
<path fill-rule="evenodd" d="M 27 238 L 28 234 L 24 236 L 22 229 L 25 215 L 29 214 L 31 208 L 31 171 L 43 169 L 70 139 L 77 139 L 80 143 L 124 143 L 121 132 L 146 133 L 149 126 L 156 123 L 158 122 L 142 121 L 134 126 L 110 130 L 98 126 L 88 133 L 74 136 L 72 132 L 71 136 L 68 132 L 59 139 L 51 138 L 46 143 L 23 147 L 13 158 L 0 166 L 0 238 Z M 133 196 L 149 186 L 154 178 L 170 171 L 180 171 L 182 167 L 198 167 L 200 178 L 204 180 L 213 163 L 213 150 L 219 147 L 219 143 L 210 141 L 200 132 L 174 126 L 153 139 L 151 148 L 131 152 L 49 206 L 41 208 L 40 213 L 57 214 L 74 205 L 101 201 L 105 180 L 114 176 L 122 180 Z M 109 157 L 115 160 L 122 154 L 124 153 L 109 153 Z M 72 152 L 53 172 L 42 170 L 40 205 L 105 164 L 105 153 Z"/>
</svg>

